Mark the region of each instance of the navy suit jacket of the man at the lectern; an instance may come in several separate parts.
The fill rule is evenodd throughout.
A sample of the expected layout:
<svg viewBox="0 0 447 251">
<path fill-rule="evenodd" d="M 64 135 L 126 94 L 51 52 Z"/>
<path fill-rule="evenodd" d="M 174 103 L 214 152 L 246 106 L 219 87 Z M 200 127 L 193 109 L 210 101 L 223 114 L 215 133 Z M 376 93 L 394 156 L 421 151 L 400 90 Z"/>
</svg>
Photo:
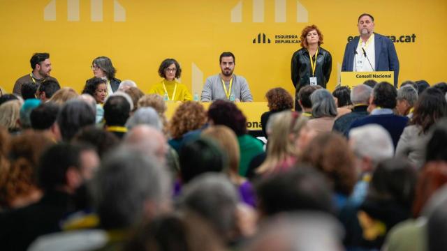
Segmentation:
<svg viewBox="0 0 447 251">
<path fill-rule="evenodd" d="M 344 49 L 342 71 L 353 71 L 354 52 L 358 46 L 360 37 L 356 36 Z M 394 71 L 394 86 L 397 88 L 397 79 L 399 77 L 399 59 L 397 59 L 396 49 L 393 41 L 386 36 L 374 33 L 374 50 L 376 58 L 376 71 Z"/>
</svg>

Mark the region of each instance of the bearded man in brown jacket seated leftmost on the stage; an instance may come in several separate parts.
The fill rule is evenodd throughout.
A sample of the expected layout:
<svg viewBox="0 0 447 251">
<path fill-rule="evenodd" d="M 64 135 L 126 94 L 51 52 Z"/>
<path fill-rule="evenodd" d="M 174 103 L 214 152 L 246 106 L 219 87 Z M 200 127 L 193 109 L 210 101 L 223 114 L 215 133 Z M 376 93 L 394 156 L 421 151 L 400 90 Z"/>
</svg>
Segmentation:
<svg viewBox="0 0 447 251">
<path fill-rule="evenodd" d="M 17 79 L 13 89 L 13 93 L 16 95 L 22 96 L 21 89 L 22 84 L 24 83 L 34 83 L 39 85 L 42 82 L 50 79 L 54 82 L 57 82 L 57 79 L 55 79 L 54 77 L 50 77 L 50 54 L 35 53 L 33 56 L 31 56 L 29 63 L 31 63 L 31 68 L 33 68 L 33 71 L 27 75 L 24 75 L 23 77 L 20 77 L 20 79 Z M 57 84 L 59 84 L 59 82 L 57 82 Z"/>
</svg>

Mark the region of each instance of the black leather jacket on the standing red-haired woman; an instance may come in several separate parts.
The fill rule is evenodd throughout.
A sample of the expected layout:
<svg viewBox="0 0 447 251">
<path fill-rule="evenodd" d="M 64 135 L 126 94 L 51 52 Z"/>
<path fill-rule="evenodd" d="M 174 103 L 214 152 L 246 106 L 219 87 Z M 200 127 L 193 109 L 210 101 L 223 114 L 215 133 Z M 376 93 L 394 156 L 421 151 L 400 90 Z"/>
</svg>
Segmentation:
<svg viewBox="0 0 447 251">
<path fill-rule="evenodd" d="M 315 77 L 319 86 L 326 88 L 332 70 L 332 56 L 322 47 L 318 50 L 316 58 Z M 310 84 L 309 77 L 312 77 L 312 67 L 310 66 L 309 52 L 306 48 L 301 48 L 292 56 L 291 75 L 296 93 L 302 86 Z"/>
</svg>

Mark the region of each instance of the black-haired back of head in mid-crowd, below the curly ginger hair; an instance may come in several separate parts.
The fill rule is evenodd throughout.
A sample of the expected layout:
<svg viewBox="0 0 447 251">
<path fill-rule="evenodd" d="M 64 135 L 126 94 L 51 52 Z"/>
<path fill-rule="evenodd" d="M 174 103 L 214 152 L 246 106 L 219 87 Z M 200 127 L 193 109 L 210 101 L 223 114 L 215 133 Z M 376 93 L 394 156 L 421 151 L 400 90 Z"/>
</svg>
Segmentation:
<svg viewBox="0 0 447 251">
<path fill-rule="evenodd" d="M 182 182 L 188 183 L 205 172 L 221 172 L 227 166 L 226 155 L 210 139 L 187 142 L 179 151 Z"/>
</svg>

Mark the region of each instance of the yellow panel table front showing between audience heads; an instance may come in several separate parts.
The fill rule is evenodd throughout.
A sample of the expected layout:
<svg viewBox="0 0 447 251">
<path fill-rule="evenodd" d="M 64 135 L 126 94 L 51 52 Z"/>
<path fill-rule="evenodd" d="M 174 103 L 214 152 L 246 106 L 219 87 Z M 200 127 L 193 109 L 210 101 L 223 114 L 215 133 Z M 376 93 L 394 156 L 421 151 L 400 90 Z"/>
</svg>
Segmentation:
<svg viewBox="0 0 447 251">
<path fill-rule="evenodd" d="M 201 103 L 205 109 L 210 107 L 211 102 Z M 261 127 L 261 115 L 264 112 L 268 112 L 267 102 L 235 102 L 237 107 L 242 110 L 242 113 L 247 118 L 247 129 L 248 130 L 262 130 Z M 182 105 L 182 102 L 166 102 L 166 119 L 170 119 L 177 107 Z"/>
</svg>

